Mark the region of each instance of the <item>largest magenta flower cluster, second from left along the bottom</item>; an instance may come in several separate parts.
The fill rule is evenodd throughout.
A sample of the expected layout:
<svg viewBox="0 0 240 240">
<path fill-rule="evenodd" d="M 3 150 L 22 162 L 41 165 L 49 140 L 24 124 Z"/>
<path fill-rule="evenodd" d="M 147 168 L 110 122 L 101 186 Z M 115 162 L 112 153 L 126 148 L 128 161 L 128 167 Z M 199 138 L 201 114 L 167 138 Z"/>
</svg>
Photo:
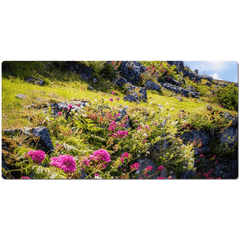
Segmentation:
<svg viewBox="0 0 240 240">
<path fill-rule="evenodd" d="M 51 158 L 50 165 L 62 169 L 64 172 L 74 172 L 76 170 L 76 162 L 72 156 L 60 155 Z"/>
</svg>

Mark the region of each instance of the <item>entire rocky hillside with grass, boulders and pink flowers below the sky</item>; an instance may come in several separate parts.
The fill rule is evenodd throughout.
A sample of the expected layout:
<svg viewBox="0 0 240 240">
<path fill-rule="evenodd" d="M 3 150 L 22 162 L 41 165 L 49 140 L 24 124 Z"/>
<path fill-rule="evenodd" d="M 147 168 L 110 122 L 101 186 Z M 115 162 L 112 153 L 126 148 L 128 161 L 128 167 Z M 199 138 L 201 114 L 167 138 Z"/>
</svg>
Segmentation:
<svg viewBox="0 0 240 240">
<path fill-rule="evenodd" d="M 183 62 L 3 62 L 4 178 L 237 178 L 238 88 Z"/>
</svg>

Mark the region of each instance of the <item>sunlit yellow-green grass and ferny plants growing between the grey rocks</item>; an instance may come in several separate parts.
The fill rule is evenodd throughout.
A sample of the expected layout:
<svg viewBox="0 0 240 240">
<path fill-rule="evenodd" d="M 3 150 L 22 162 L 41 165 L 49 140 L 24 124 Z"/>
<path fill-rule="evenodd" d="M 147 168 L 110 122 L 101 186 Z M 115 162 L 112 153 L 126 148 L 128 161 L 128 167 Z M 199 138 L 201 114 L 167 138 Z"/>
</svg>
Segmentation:
<svg viewBox="0 0 240 240">
<path fill-rule="evenodd" d="M 3 63 L 2 129 L 46 126 L 55 148 L 51 156 L 46 155 L 42 165 L 36 165 L 29 158 L 26 163 L 23 161 L 25 153 L 35 148 L 26 142 L 23 136 L 15 136 L 12 139 L 4 135 L 4 142 L 9 142 L 9 146 L 21 144 L 20 147 L 14 145 L 10 153 L 5 152 L 10 168 L 9 172 L 5 173 L 7 176 L 20 178 L 34 173 L 35 178 L 79 178 L 84 174 L 87 178 L 96 178 L 98 175 L 101 178 L 139 178 L 133 164 L 137 159 L 147 157 L 157 166 L 164 166 L 167 177 L 174 175 L 177 178 L 185 169 L 196 170 L 192 148 L 199 144 L 183 143 L 179 138 L 180 134 L 194 129 L 210 132 L 212 128 L 220 132 L 231 125 L 231 121 L 223 118 L 221 112 L 238 115 L 236 107 L 229 107 L 228 104 L 219 101 L 219 90 L 214 81 L 208 86 L 207 80 L 195 83 L 188 77 L 184 78 L 183 87 L 195 88 L 200 92 L 200 99 L 187 98 L 162 88 L 161 91 L 148 90 L 147 102 L 138 104 L 124 101 L 126 89 L 114 84 L 113 79 L 119 76 L 117 62 L 80 63 L 90 66 L 93 70 L 90 79 L 85 80 L 80 74 L 66 70 L 61 62 Z M 157 77 L 161 77 L 163 70 L 179 80 L 174 66 L 168 66 L 165 62 L 142 64 L 149 68 L 154 64 L 156 70 L 154 73 L 143 75 L 140 86 L 144 86 L 149 79 L 157 82 Z M 44 85 L 26 82 L 30 77 L 42 79 Z M 89 85 L 92 90 L 88 88 Z M 17 94 L 26 97 L 17 98 Z M 64 113 L 54 117 L 49 109 L 53 103 L 66 102 L 74 105 L 81 101 L 87 102 L 88 105 L 82 108 L 80 113 L 71 113 L 71 120 L 66 119 Z M 207 105 L 212 109 L 208 110 Z M 99 110 L 103 107 L 104 114 Z M 109 130 L 109 124 L 116 120 L 114 115 L 125 107 L 128 119 L 123 118 L 118 122 L 116 131 L 125 131 L 124 125 L 128 120 L 131 127 L 127 130 L 127 136 L 117 139 Z M 162 125 L 163 122 L 166 122 L 165 126 Z M 170 146 L 155 153 L 154 145 L 159 143 L 163 146 L 166 140 Z M 111 162 L 106 167 L 98 167 L 95 163 L 86 164 L 86 158 L 90 154 L 94 155 L 99 149 L 104 149 L 111 155 Z M 124 153 L 128 153 L 128 157 L 122 157 Z M 49 164 L 50 158 L 64 154 L 75 158 L 77 171 L 74 173 L 66 173 L 63 169 Z M 210 154 L 214 155 L 214 152 Z M 95 174 L 97 175 L 94 176 Z"/>
</svg>

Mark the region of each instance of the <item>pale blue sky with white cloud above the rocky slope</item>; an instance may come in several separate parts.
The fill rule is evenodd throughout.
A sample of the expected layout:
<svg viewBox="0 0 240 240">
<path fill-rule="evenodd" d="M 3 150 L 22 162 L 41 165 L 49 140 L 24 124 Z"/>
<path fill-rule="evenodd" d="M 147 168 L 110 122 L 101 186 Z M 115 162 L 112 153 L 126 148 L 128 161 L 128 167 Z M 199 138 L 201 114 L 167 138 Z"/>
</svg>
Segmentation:
<svg viewBox="0 0 240 240">
<path fill-rule="evenodd" d="M 238 82 L 238 62 L 236 61 L 184 61 L 191 70 L 198 69 L 200 75 L 212 76 L 214 79 Z"/>
</svg>

